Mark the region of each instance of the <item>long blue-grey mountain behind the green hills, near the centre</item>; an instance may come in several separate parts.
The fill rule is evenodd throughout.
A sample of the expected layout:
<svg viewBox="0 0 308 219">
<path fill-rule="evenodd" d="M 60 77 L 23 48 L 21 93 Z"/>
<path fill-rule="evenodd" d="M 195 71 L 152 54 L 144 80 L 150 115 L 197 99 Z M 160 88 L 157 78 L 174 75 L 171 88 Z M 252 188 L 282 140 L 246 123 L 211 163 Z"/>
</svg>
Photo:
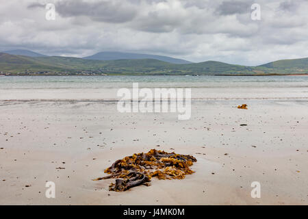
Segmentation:
<svg viewBox="0 0 308 219">
<path fill-rule="evenodd" d="M 163 55 L 149 55 L 140 53 L 120 53 L 120 52 L 101 52 L 94 55 L 84 57 L 87 60 L 143 60 L 143 59 L 153 59 L 160 60 L 163 62 L 169 62 L 172 64 L 190 64 L 186 60 L 175 59 L 173 57 L 163 56 Z"/>
</svg>

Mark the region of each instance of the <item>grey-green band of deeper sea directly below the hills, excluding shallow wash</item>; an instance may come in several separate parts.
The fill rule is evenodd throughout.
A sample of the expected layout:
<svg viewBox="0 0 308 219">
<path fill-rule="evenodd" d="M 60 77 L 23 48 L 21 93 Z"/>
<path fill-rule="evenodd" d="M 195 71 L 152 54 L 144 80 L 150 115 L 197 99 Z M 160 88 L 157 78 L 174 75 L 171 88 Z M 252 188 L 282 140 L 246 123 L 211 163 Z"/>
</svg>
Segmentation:
<svg viewBox="0 0 308 219">
<path fill-rule="evenodd" d="M 125 88 L 308 88 L 305 76 L 10 76 L 0 89 Z"/>
</svg>

